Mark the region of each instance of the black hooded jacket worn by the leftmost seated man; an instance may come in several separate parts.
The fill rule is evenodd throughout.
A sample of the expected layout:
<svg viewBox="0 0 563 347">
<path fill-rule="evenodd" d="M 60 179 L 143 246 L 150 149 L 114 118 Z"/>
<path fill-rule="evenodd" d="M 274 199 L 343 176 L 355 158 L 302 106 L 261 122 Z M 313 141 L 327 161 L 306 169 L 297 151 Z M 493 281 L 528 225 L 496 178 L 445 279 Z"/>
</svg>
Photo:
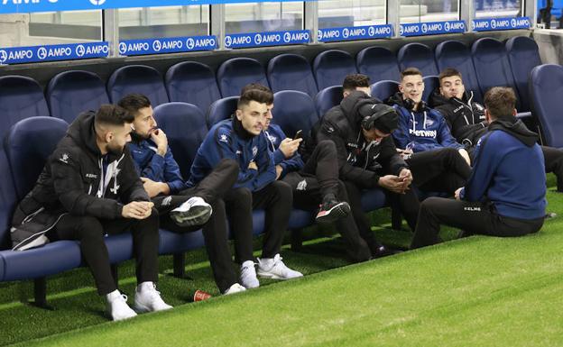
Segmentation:
<svg viewBox="0 0 563 347">
<path fill-rule="evenodd" d="M 64 214 L 121 217 L 123 205 L 150 201 L 127 147 L 102 156 L 94 112 L 79 114 L 14 212 L 15 249 L 48 232 Z M 25 223 L 23 223 L 25 222 Z"/>
</svg>

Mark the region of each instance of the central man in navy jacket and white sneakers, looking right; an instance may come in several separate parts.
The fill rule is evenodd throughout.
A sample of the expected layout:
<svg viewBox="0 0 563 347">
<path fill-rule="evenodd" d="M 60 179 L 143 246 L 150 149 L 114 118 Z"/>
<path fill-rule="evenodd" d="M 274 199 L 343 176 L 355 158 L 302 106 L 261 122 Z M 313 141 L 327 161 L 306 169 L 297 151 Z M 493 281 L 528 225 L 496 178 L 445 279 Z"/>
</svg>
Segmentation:
<svg viewBox="0 0 563 347">
<path fill-rule="evenodd" d="M 220 160 L 236 160 L 239 164 L 238 179 L 234 189 L 225 196 L 226 204 L 239 205 L 241 199 L 249 199 L 253 208 L 263 208 L 266 214 L 262 258 L 258 259 L 258 275 L 271 279 L 293 279 L 301 277 L 302 274 L 285 266 L 280 257 L 283 233 L 287 230 L 291 214 L 291 187 L 276 180 L 272 154 L 263 132 L 268 113 L 266 105 L 272 103 L 272 95 L 261 90 L 243 93 L 238 100 L 234 116 L 215 124 L 199 146 L 191 167 L 189 183 L 197 184 Z M 248 210 L 245 216 L 245 222 L 231 224 L 231 227 L 252 231 L 252 209 Z M 258 287 L 252 254 L 252 235 L 246 240 L 236 240 L 235 236 L 235 241 L 239 243 L 236 256 L 242 263 L 241 277 L 247 279 L 244 280 L 246 283 L 254 283 L 246 288 Z"/>
</svg>

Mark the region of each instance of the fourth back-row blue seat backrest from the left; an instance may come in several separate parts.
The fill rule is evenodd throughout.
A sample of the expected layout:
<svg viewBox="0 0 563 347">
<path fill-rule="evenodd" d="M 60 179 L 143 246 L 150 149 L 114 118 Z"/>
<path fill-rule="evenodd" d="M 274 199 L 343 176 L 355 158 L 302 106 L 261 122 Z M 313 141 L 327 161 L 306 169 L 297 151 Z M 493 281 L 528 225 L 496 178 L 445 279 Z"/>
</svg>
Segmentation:
<svg viewBox="0 0 563 347">
<path fill-rule="evenodd" d="M 207 65 L 196 61 L 172 65 L 164 81 L 171 102 L 196 105 L 204 114 L 211 103 L 221 98 L 215 73 Z"/>
</svg>

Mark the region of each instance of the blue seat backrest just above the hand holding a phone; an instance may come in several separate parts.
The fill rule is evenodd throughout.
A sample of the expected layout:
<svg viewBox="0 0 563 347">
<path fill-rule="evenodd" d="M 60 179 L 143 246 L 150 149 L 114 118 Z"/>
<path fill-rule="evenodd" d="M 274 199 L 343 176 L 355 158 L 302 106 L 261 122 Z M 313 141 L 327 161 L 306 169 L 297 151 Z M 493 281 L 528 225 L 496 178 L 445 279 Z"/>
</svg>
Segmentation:
<svg viewBox="0 0 563 347">
<path fill-rule="evenodd" d="M 286 136 L 292 137 L 295 132 L 309 134 L 310 128 L 318 122 L 315 103 L 311 97 L 296 90 L 282 90 L 273 95 L 272 122 L 280 125 Z"/>
</svg>

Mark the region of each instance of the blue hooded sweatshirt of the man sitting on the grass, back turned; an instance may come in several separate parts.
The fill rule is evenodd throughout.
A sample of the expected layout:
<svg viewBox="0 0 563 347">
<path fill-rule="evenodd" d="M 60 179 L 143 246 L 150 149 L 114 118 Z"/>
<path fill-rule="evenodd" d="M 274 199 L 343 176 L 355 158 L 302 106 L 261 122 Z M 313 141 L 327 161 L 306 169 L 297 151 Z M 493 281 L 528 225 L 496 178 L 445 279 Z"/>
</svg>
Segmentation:
<svg viewBox="0 0 563 347">
<path fill-rule="evenodd" d="M 460 193 L 466 201 L 490 201 L 499 215 L 536 219 L 547 205 L 538 134 L 516 117 L 499 118 L 475 148 L 475 165 Z"/>
</svg>

